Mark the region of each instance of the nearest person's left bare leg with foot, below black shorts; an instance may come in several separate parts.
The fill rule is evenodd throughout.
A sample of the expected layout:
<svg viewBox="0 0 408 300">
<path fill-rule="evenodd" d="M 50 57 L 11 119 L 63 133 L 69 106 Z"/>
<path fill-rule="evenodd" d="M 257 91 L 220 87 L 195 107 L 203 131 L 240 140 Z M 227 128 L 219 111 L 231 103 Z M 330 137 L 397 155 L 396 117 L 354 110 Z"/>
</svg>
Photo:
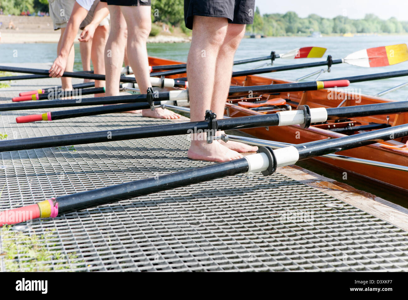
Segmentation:
<svg viewBox="0 0 408 300">
<path fill-rule="evenodd" d="M 211 107 L 217 56 L 226 38 L 227 29 L 226 18 L 194 16 L 193 39 L 187 58 L 190 118 L 193 122 L 204 120 L 205 111 Z M 217 162 L 242 157 L 217 141 L 207 144 L 204 133 L 192 134 L 187 156 Z"/>
</svg>

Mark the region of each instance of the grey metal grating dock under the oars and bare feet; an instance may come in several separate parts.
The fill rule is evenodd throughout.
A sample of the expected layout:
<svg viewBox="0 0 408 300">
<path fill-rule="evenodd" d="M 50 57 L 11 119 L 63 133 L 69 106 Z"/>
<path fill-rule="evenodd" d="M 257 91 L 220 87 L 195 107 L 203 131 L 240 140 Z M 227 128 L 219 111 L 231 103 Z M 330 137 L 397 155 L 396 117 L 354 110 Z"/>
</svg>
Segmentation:
<svg viewBox="0 0 408 300">
<path fill-rule="evenodd" d="M 38 112 L 2 112 L 0 133 L 171 122 L 111 114 L 15 123 L 30 113 Z M 0 209 L 207 164 L 188 160 L 187 149 L 188 136 L 175 136 L 0 153 Z M 280 173 L 195 184 L 0 233 L 2 271 L 408 271 L 407 231 Z M 24 238 L 34 253 L 21 250 Z M 16 254 L 7 258 L 10 245 Z"/>
</svg>

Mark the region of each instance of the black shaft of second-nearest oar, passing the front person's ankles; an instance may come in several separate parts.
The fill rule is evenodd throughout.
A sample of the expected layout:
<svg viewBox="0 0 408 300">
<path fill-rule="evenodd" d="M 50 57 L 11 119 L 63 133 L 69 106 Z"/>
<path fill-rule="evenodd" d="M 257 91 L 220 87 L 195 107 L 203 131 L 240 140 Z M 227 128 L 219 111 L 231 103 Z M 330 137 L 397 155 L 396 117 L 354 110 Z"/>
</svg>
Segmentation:
<svg viewBox="0 0 408 300">
<path fill-rule="evenodd" d="M 386 105 L 384 105 L 386 104 Z M 311 122 L 322 122 L 324 120 L 344 118 L 347 116 L 347 110 L 350 110 L 350 114 L 358 116 L 370 116 L 370 115 L 380 115 L 388 113 L 388 110 L 395 109 L 399 111 L 407 111 L 407 102 L 391 102 L 384 104 L 367 104 L 361 106 L 362 109 L 358 110 L 357 107 L 339 107 L 333 109 L 317 109 L 319 112 L 313 111 L 311 114 Z M 384 105 L 384 109 L 381 106 Z M 367 109 L 364 107 L 373 107 L 371 113 L 367 113 Z M 313 109 L 312 109 L 313 110 Z M 322 112 L 326 112 L 326 117 Z M 289 116 L 289 118 L 281 119 L 281 116 Z M 282 111 L 276 114 L 267 114 L 261 116 L 248 116 L 240 118 L 230 118 L 218 120 L 219 130 L 232 130 L 232 129 L 246 129 L 253 127 L 266 127 L 266 126 L 285 126 L 290 124 L 302 124 L 304 115 L 301 113 L 299 116 L 298 111 Z M 296 119 L 296 120 L 295 120 Z M 315 120 L 315 121 L 313 121 Z M 5 140 L 0 141 L 0 152 L 2 151 L 16 151 L 24 149 L 36 149 L 36 148 L 47 148 L 47 147 L 59 147 L 67 146 L 72 144 L 89 144 L 96 142 L 107 142 L 115 140 L 130 140 L 138 138 L 151 138 L 159 136 L 173 136 L 179 134 L 190 133 L 191 130 L 207 130 L 208 122 L 186 122 L 180 124 L 165 124 L 156 125 L 149 127 L 137 127 L 129 129 L 115 129 L 109 131 L 111 137 L 108 140 L 106 138 L 107 131 L 95 131 L 89 133 L 75 133 L 62 136 L 50 136 L 42 138 L 25 138 L 20 140 Z"/>
</svg>

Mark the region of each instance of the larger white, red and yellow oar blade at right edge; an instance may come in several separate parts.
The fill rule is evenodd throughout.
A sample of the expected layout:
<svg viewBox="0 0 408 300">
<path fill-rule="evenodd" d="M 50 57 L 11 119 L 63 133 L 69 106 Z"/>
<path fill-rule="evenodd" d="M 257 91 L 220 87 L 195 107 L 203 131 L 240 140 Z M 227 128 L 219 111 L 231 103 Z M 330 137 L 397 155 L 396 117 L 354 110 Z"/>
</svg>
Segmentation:
<svg viewBox="0 0 408 300">
<path fill-rule="evenodd" d="M 407 44 L 382 46 L 360 50 L 346 56 L 343 61 L 359 67 L 386 67 L 408 60 Z"/>
</svg>

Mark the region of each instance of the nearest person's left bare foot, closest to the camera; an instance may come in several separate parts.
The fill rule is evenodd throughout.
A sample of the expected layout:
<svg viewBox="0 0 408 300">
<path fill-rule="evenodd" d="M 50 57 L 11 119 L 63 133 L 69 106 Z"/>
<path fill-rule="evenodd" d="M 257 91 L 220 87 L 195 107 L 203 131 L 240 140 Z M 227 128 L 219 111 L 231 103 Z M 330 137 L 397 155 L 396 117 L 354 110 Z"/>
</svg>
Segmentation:
<svg viewBox="0 0 408 300">
<path fill-rule="evenodd" d="M 206 140 L 192 140 L 187 157 L 210 162 L 227 162 L 243 156 L 234 150 L 228 149 L 216 140 L 211 144 L 208 144 Z"/>
</svg>

